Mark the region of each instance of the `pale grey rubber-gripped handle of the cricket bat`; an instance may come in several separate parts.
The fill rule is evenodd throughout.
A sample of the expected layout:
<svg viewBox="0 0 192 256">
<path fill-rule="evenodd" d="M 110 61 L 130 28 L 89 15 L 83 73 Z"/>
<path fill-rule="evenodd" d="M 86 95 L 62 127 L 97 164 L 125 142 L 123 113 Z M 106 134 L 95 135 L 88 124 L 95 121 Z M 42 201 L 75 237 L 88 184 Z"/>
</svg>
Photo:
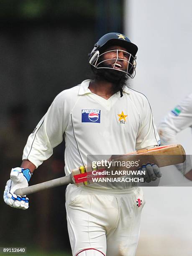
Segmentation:
<svg viewBox="0 0 192 256">
<path fill-rule="evenodd" d="M 71 174 L 69 174 L 65 177 L 58 178 L 58 179 L 52 179 L 52 180 L 49 180 L 47 182 L 42 182 L 40 184 L 36 184 L 36 185 L 33 185 L 33 186 L 23 187 L 21 189 L 16 189 L 15 190 L 15 195 L 20 195 L 20 196 L 29 195 L 29 194 L 39 192 L 39 191 L 44 190 L 44 189 L 49 189 L 49 188 L 52 188 L 52 187 L 58 187 L 58 186 L 65 185 L 65 184 L 70 184 L 70 183 L 74 183 Z"/>
</svg>

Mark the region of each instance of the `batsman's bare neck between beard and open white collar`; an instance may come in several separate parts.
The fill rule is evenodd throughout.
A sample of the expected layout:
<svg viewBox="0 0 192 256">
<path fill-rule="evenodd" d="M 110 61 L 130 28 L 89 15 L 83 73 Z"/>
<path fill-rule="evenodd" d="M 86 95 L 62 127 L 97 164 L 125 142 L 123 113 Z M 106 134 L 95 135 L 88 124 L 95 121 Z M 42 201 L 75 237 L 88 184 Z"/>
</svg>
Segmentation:
<svg viewBox="0 0 192 256">
<path fill-rule="evenodd" d="M 113 83 L 106 80 L 94 80 L 90 82 L 89 89 L 92 93 L 108 100 L 115 92 Z"/>
</svg>

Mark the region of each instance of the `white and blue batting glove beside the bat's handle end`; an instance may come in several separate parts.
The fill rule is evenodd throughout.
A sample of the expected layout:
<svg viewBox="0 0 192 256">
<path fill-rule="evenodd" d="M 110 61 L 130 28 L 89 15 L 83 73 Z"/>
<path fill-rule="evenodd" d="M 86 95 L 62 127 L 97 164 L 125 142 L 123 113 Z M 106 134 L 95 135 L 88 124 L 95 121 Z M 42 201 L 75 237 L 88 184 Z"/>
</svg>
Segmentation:
<svg viewBox="0 0 192 256">
<path fill-rule="evenodd" d="M 28 182 L 31 179 L 32 173 L 29 169 L 20 167 L 13 168 L 10 172 L 10 179 L 8 180 L 3 199 L 5 203 L 11 207 L 26 210 L 29 207 L 29 200 L 26 196 L 15 195 L 15 190 L 23 187 L 28 187 Z"/>
</svg>

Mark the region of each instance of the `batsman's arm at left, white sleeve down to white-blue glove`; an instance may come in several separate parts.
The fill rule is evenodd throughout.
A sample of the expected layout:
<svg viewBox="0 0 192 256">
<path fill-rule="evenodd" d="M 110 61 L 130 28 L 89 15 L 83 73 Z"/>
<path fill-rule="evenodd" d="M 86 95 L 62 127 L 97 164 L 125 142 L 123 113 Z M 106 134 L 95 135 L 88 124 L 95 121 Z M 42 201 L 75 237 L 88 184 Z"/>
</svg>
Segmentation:
<svg viewBox="0 0 192 256">
<path fill-rule="evenodd" d="M 53 148 L 62 142 L 63 133 L 69 121 L 64 113 L 67 108 L 65 104 L 62 97 L 58 95 L 28 137 L 23 151 L 23 163 L 21 167 L 11 170 L 10 179 L 5 186 L 4 201 L 7 205 L 23 210 L 28 208 L 28 198 L 16 196 L 15 190 L 28 187 L 33 171 L 48 159 L 53 154 Z"/>
</svg>

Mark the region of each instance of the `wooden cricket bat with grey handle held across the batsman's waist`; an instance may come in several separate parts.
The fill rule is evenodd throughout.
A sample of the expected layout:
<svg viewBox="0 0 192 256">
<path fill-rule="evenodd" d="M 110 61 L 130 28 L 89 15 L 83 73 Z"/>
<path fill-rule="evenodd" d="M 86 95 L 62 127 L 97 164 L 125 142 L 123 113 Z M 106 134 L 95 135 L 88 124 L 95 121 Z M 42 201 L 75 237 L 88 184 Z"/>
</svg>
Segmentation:
<svg viewBox="0 0 192 256">
<path fill-rule="evenodd" d="M 115 156 L 110 161 L 139 161 L 139 166 L 134 166 L 132 169 L 135 170 L 141 167 L 143 164 L 153 163 L 159 167 L 181 164 L 184 163 L 186 154 L 182 145 L 167 145 L 157 146 L 153 148 L 144 148 L 138 151 L 134 151 L 129 154 Z M 97 173 L 101 173 L 105 168 L 97 167 L 95 169 L 92 166 L 80 166 L 79 168 L 73 169 L 72 173 L 58 179 L 52 179 L 47 182 L 36 184 L 33 186 L 16 189 L 16 195 L 29 195 L 35 192 L 39 192 L 44 189 L 52 187 L 58 187 L 64 184 L 76 184 L 77 186 L 87 186 L 92 184 L 92 177 L 94 176 L 93 170 Z M 100 177 L 100 174 L 97 174 Z"/>
</svg>

